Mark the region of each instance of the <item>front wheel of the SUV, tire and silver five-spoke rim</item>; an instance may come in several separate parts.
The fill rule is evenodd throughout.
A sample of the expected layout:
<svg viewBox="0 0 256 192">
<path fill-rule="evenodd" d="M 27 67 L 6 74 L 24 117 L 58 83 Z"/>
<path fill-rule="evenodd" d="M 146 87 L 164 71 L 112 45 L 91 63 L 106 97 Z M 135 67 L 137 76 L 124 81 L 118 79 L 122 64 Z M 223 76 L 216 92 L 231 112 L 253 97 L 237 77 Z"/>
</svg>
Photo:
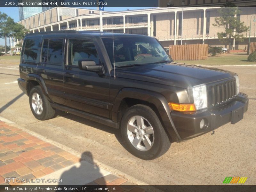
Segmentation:
<svg viewBox="0 0 256 192">
<path fill-rule="evenodd" d="M 155 159 L 171 145 L 156 113 L 145 105 L 134 105 L 126 111 L 121 132 L 127 150 L 141 159 Z"/>
</svg>

